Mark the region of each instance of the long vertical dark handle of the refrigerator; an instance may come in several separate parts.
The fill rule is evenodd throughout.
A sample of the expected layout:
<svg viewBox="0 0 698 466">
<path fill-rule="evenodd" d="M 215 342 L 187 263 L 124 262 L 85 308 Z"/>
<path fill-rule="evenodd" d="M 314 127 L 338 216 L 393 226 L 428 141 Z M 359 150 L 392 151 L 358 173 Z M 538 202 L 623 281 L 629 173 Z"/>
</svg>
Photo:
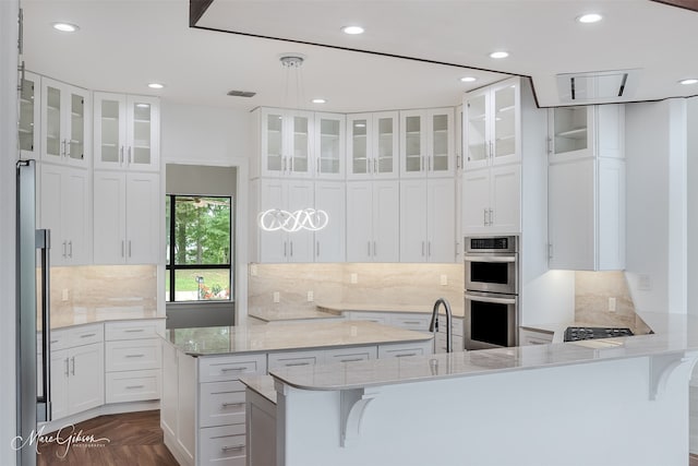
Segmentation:
<svg viewBox="0 0 698 466">
<path fill-rule="evenodd" d="M 41 251 L 41 372 L 43 396 L 37 399 L 37 420 L 51 420 L 51 299 L 49 296 L 51 268 L 51 231 L 36 230 L 36 248 Z"/>
</svg>

